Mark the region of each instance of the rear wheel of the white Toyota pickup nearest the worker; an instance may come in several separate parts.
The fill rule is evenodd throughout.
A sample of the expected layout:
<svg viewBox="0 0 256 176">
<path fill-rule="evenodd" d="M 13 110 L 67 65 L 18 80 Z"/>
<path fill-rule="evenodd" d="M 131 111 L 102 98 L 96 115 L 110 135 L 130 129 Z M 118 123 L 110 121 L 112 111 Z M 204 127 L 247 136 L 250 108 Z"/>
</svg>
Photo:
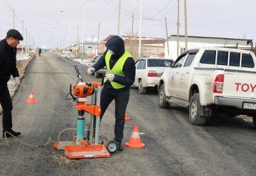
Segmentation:
<svg viewBox="0 0 256 176">
<path fill-rule="evenodd" d="M 199 106 L 201 106 L 199 93 L 195 93 L 191 98 L 189 107 L 189 121 L 195 126 L 203 126 L 207 120 L 207 117 L 199 115 Z"/>
</svg>

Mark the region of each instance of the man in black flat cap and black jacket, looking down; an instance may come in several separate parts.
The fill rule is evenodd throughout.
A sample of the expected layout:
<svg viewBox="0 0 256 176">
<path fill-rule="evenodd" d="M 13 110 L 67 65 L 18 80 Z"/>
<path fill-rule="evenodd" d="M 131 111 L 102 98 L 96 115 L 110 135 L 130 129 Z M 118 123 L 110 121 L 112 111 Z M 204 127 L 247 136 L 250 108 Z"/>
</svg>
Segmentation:
<svg viewBox="0 0 256 176">
<path fill-rule="evenodd" d="M 16 46 L 19 44 L 19 40 L 23 40 L 21 33 L 11 29 L 7 32 L 6 38 L 0 41 L 0 103 L 2 106 L 3 137 L 5 131 L 14 136 L 21 134 L 12 130 L 12 99 L 7 87 L 11 75 L 15 79 L 15 86 L 20 84 L 19 72 L 16 67 Z M 10 136 L 6 133 L 6 137 Z"/>
</svg>

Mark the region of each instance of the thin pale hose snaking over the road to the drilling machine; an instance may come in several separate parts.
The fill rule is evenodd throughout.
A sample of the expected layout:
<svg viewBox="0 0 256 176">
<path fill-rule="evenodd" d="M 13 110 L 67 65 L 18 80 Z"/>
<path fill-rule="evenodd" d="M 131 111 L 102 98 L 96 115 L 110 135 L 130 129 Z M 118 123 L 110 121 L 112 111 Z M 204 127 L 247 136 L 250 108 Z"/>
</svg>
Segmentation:
<svg viewBox="0 0 256 176">
<path fill-rule="evenodd" d="M 9 134 L 11 135 L 12 137 L 14 137 L 16 140 L 18 140 L 20 143 L 22 143 L 23 145 L 26 145 L 28 147 L 45 147 L 46 145 L 48 145 L 49 143 L 57 143 L 57 142 L 60 142 L 60 135 L 64 132 L 64 131 L 67 131 L 67 130 L 76 130 L 76 128 L 66 128 L 62 131 L 60 131 L 59 135 L 58 135 L 58 141 L 52 141 L 52 138 L 48 138 L 48 141 L 45 143 L 45 144 L 42 144 L 42 145 L 31 145 L 31 144 L 27 144 L 25 142 L 23 142 L 22 140 L 19 140 L 19 138 L 17 138 L 16 136 L 12 135 L 11 133 L 9 133 L 8 131 L 5 131 L 4 133 L 4 136 L 5 136 L 5 141 L 6 143 L 2 143 L 0 145 L 5 145 L 6 147 L 8 148 L 11 148 L 10 145 L 9 145 L 9 142 L 7 140 L 7 137 L 6 137 L 6 134 Z M 85 131 L 90 131 L 90 130 L 85 130 Z"/>
</svg>

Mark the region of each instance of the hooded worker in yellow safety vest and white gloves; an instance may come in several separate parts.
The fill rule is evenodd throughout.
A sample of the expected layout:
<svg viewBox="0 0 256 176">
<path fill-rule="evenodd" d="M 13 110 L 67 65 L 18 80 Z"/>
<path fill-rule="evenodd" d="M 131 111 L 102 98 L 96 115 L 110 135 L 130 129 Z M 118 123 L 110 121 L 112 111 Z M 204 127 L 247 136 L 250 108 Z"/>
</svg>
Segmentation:
<svg viewBox="0 0 256 176">
<path fill-rule="evenodd" d="M 122 139 L 124 117 L 130 97 L 130 87 L 135 79 L 135 63 L 132 55 L 124 48 L 124 41 L 119 36 L 113 36 L 105 44 L 107 50 L 99 61 L 87 72 L 92 75 L 97 70 L 107 67 L 104 87 L 101 93 L 100 106 L 102 116 L 109 104 L 114 100 L 116 104 L 114 125 L 114 140 L 119 144 L 119 151 L 123 150 Z"/>
</svg>

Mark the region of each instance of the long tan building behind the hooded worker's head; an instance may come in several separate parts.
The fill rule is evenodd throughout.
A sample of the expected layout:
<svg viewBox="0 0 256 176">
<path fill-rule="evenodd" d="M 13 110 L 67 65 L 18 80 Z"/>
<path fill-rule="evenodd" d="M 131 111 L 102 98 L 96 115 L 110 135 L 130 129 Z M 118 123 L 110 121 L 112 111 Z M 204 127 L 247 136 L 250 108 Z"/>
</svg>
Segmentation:
<svg viewBox="0 0 256 176">
<path fill-rule="evenodd" d="M 114 35 L 109 35 L 107 38 L 99 42 L 99 52 L 103 54 L 106 50 L 105 43 L 107 40 L 112 38 Z M 126 49 L 133 55 L 136 59 L 139 55 L 139 36 L 134 36 L 133 40 L 131 36 L 120 36 L 125 43 Z M 132 45 L 133 44 L 133 45 Z M 147 57 L 151 55 L 164 56 L 164 45 L 165 39 L 162 38 L 147 38 L 142 37 L 142 57 Z"/>
</svg>

